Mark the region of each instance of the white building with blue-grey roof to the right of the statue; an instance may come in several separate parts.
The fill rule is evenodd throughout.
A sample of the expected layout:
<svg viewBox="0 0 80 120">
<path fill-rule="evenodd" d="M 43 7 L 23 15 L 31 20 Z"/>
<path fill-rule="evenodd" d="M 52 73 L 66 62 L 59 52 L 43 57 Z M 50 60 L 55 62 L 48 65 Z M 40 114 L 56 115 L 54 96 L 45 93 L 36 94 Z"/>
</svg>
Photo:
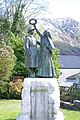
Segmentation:
<svg viewBox="0 0 80 120">
<path fill-rule="evenodd" d="M 74 83 L 80 84 L 80 57 L 75 55 L 60 55 L 59 63 L 62 72 L 62 75 L 58 79 L 60 85 L 71 86 Z"/>
</svg>

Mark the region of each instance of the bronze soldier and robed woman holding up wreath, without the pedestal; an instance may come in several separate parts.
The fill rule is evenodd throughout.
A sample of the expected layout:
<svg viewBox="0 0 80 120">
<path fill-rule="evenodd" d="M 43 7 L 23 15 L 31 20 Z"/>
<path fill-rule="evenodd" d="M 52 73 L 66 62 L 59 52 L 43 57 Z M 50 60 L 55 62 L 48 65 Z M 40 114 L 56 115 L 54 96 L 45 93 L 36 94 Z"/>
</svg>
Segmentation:
<svg viewBox="0 0 80 120">
<path fill-rule="evenodd" d="M 52 52 L 54 47 L 50 33 L 45 30 L 43 34 L 36 28 L 37 21 L 29 20 L 30 27 L 28 28 L 29 36 L 25 37 L 25 67 L 29 69 L 29 76 L 35 77 L 54 77 L 55 70 L 52 64 Z M 33 36 L 34 30 L 40 36 L 40 43 Z M 40 54 L 38 55 L 37 44 L 40 45 Z"/>
</svg>

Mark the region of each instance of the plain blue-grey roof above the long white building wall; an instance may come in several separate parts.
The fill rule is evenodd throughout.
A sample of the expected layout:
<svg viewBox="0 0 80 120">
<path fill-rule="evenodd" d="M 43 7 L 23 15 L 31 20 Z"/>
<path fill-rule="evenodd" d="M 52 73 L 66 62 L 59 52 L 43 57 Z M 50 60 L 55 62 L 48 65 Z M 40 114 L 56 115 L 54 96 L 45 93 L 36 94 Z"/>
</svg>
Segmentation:
<svg viewBox="0 0 80 120">
<path fill-rule="evenodd" d="M 80 56 L 60 55 L 59 63 L 63 69 L 80 69 Z"/>
</svg>

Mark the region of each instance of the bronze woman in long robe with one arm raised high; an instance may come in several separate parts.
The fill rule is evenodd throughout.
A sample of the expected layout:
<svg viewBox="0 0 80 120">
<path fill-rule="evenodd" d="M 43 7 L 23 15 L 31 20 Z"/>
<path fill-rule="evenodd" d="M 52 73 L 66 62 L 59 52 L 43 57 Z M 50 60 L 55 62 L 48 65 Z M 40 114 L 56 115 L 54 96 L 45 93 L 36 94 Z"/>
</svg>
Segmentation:
<svg viewBox="0 0 80 120">
<path fill-rule="evenodd" d="M 52 38 L 50 33 L 45 30 L 43 35 L 38 31 L 36 26 L 34 26 L 36 32 L 40 36 L 41 44 L 40 44 L 40 61 L 38 66 L 39 77 L 54 77 L 55 70 L 52 64 L 52 52 L 54 47 Z"/>
</svg>

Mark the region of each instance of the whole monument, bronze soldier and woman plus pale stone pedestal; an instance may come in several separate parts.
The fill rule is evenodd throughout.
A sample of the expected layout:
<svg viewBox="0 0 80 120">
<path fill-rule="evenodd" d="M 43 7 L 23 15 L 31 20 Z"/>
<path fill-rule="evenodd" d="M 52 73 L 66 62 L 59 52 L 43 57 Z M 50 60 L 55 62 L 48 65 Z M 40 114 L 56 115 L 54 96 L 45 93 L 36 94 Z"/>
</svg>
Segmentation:
<svg viewBox="0 0 80 120">
<path fill-rule="evenodd" d="M 35 19 L 31 19 L 29 23 L 33 28 L 28 29 L 29 36 L 25 37 L 25 67 L 29 69 L 30 78 L 24 79 L 22 111 L 16 120 L 64 120 L 63 114 L 59 111 L 58 82 L 53 78 L 55 74 L 52 64 L 54 44 L 51 35 L 47 30 L 41 34 L 35 26 Z M 40 36 L 39 57 L 38 42 L 33 36 L 34 29 Z M 36 70 L 38 70 L 37 76 Z"/>
</svg>

